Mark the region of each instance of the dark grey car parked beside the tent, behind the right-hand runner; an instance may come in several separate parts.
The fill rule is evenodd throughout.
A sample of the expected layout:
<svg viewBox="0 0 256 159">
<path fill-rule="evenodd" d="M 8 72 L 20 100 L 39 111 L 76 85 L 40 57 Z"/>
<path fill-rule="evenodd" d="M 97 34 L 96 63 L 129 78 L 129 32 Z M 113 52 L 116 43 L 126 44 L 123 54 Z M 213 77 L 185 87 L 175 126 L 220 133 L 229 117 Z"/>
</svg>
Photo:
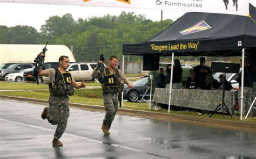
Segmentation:
<svg viewBox="0 0 256 159">
<path fill-rule="evenodd" d="M 146 92 L 149 86 L 149 80 L 147 77 L 141 78 L 133 82 L 132 86 L 132 88 L 129 88 L 126 84 L 124 85 L 124 99 L 127 99 L 129 102 L 138 102 Z M 144 99 L 150 99 L 150 90 L 147 91 Z"/>
</svg>

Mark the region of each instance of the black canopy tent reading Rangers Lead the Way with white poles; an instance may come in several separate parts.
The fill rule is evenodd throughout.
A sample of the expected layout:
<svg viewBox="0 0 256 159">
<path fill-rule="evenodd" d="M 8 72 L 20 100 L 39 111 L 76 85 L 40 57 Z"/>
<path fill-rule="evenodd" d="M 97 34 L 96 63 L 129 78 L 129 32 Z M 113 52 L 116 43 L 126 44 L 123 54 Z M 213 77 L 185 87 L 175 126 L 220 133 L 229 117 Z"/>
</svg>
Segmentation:
<svg viewBox="0 0 256 159">
<path fill-rule="evenodd" d="M 123 44 L 123 55 L 172 56 L 172 61 L 174 53 L 177 56 L 242 55 L 242 110 L 245 49 L 246 54 L 251 56 L 254 69 L 256 60 L 256 8 L 251 4 L 249 7 L 248 17 L 219 13 L 186 13 L 149 40 L 137 44 Z M 172 74 L 171 72 L 169 112 Z M 242 113 L 240 119 L 242 120 Z"/>
</svg>

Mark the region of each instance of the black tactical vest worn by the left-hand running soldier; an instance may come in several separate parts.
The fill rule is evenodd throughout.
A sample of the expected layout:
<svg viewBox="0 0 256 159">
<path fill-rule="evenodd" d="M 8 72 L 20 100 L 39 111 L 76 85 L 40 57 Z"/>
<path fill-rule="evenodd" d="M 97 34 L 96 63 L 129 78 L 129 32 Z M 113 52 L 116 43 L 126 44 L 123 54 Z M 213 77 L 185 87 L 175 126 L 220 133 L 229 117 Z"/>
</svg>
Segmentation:
<svg viewBox="0 0 256 159">
<path fill-rule="evenodd" d="M 49 83 L 49 90 L 55 95 L 73 96 L 75 90 L 70 72 L 60 73 L 59 69 L 55 68 L 55 82 Z"/>
</svg>

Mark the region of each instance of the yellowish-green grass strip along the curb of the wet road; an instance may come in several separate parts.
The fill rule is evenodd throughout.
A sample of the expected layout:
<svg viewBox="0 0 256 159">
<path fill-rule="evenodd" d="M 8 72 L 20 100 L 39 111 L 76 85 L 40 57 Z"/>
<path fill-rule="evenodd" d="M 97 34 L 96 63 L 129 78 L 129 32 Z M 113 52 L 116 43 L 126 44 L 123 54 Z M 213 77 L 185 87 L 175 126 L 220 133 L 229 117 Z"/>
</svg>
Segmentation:
<svg viewBox="0 0 256 159">
<path fill-rule="evenodd" d="M 8 91 L 8 92 L 0 92 L 0 95 L 8 95 L 8 96 L 16 96 L 16 97 L 26 97 L 26 98 L 36 98 L 36 99 L 48 99 L 49 98 L 49 91 L 48 90 L 35 90 L 35 91 Z M 103 99 L 102 99 L 102 90 L 101 89 L 83 89 L 83 90 L 76 90 L 75 95 L 70 97 L 70 102 L 72 103 L 80 103 L 80 104 L 88 104 L 88 105 L 99 105 L 103 106 Z M 168 113 L 167 110 L 149 110 L 148 103 L 141 103 L 139 107 L 136 106 L 138 103 L 131 103 L 131 102 L 124 102 L 125 109 L 132 109 L 132 110 L 144 110 L 150 112 L 161 112 L 161 113 Z M 192 117 L 203 117 L 208 118 L 209 114 L 201 114 L 198 112 L 186 112 L 186 111 L 171 111 L 171 114 L 178 114 L 178 115 L 187 115 Z M 221 114 L 214 114 L 212 116 L 214 119 L 223 119 L 223 115 Z M 235 120 L 240 121 L 239 116 L 233 116 L 230 118 L 225 115 L 225 120 Z M 244 122 L 253 122 L 256 123 L 256 118 L 248 118 L 247 120 L 242 120 Z"/>
</svg>

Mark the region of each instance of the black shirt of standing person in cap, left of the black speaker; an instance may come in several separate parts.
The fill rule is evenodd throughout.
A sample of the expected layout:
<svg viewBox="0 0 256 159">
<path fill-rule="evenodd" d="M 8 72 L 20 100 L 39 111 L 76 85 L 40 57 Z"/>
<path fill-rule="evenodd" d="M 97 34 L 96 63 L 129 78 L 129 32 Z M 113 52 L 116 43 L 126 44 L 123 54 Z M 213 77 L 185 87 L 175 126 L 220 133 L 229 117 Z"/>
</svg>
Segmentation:
<svg viewBox="0 0 256 159">
<path fill-rule="evenodd" d="M 198 81 L 198 86 L 204 88 L 207 85 L 205 79 L 208 74 L 211 74 L 210 68 L 207 66 L 198 65 L 194 68 L 194 73 L 196 74 L 196 80 Z"/>
</svg>

